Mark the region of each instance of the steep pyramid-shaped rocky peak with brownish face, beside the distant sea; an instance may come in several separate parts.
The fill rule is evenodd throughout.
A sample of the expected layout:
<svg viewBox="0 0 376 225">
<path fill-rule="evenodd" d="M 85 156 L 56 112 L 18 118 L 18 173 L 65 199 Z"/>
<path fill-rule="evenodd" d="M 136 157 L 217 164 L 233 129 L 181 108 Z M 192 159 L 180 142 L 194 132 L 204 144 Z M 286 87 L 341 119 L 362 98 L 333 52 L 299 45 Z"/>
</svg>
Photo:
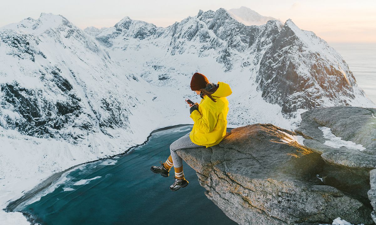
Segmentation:
<svg viewBox="0 0 376 225">
<path fill-rule="evenodd" d="M 341 96 L 354 99 L 356 81 L 334 49 L 313 32 L 297 28 L 291 20 L 275 35 L 262 57 L 257 77 L 258 89 L 265 100 L 282 106 L 286 114 L 299 108 L 325 106 L 330 99 L 335 99 L 338 105 L 350 104 Z M 321 45 L 322 49 L 312 48 L 316 45 Z"/>
</svg>

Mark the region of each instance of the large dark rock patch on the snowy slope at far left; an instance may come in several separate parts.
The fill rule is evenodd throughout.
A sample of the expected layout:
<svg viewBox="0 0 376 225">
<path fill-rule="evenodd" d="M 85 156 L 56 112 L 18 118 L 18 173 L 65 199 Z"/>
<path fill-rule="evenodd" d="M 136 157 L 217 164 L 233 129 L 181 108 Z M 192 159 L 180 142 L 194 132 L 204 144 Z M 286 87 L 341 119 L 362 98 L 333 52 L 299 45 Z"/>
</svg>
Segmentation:
<svg viewBox="0 0 376 225">
<path fill-rule="evenodd" d="M 26 89 L 20 87 L 17 82 L 1 84 L 0 106 L 5 110 L 11 110 L 20 117 L 5 115 L 5 123 L 0 125 L 7 129 L 18 130 L 22 134 L 41 138 L 83 138 L 79 134 L 59 131 L 75 123 L 77 117 L 82 114 L 80 99 L 71 93 L 71 85 L 58 73 L 53 72 L 53 81 L 64 92 L 65 100 L 55 103 L 46 99 L 41 90 Z M 1 113 L 0 113 L 1 114 Z M 87 123 L 86 123 L 87 124 Z M 92 129 L 92 124 L 87 124 L 86 130 Z"/>
</svg>

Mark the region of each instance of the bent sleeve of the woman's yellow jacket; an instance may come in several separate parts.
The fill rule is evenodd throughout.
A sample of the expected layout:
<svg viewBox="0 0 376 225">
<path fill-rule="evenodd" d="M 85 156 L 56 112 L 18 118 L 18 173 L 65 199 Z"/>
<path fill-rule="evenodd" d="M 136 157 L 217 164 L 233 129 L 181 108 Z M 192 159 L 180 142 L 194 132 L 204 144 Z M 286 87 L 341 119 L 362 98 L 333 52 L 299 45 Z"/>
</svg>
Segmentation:
<svg viewBox="0 0 376 225">
<path fill-rule="evenodd" d="M 217 124 L 218 115 L 209 109 L 203 109 L 202 112 L 203 115 L 198 110 L 194 110 L 190 117 L 200 129 L 209 133 L 214 129 L 215 124 Z"/>
</svg>

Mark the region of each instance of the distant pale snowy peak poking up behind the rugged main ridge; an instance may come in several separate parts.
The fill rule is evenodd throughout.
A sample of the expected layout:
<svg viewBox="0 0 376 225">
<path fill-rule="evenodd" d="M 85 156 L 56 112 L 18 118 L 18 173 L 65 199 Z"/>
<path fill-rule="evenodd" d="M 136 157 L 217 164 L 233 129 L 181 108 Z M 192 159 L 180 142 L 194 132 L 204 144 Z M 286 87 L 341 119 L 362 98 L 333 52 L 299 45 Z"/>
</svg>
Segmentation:
<svg viewBox="0 0 376 225">
<path fill-rule="evenodd" d="M 239 9 L 229 9 L 228 12 L 232 18 L 247 26 L 260 26 L 266 24 L 269 20 L 277 20 L 273 17 L 264 17 L 258 12 L 244 6 L 241 6 Z"/>
</svg>

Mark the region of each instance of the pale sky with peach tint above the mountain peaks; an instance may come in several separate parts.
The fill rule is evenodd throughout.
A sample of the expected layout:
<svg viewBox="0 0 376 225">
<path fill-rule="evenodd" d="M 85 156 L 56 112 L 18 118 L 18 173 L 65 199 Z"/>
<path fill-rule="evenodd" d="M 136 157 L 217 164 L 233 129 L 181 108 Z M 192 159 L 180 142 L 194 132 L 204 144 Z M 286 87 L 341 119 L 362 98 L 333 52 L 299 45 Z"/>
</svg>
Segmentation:
<svg viewBox="0 0 376 225">
<path fill-rule="evenodd" d="M 327 42 L 376 42 L 376 0 L 6 0 L 0 7 L 0 27 L 37 19 L 41 12 L 62 15 L 82 29 L 111 27 L 126 16 L 167 27 L 200 9 L 240 6 L 282 22 L 290 18 Z"/>
</svg>

